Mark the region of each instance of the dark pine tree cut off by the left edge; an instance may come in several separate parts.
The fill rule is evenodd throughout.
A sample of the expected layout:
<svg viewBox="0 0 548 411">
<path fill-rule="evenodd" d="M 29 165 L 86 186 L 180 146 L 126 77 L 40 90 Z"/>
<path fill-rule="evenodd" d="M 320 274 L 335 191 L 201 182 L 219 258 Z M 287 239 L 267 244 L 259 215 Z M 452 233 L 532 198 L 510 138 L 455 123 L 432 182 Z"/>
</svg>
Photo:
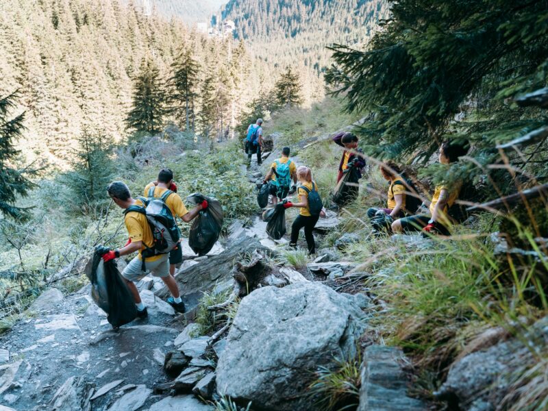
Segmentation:
<svg viewBox="0 0 548 411">
<path fill-rule="evenodd" d="M 25 174 L 32 171 L 18 170 L 13 166 L 19 154 L 14 144 L 23 132 L 25 116 L 25 113 L 21 113 L 10 119 L 16 98 L 17 92 L 0 97 L 0 212 L 14 219 L 23 219 L 27 216 L 27 210 L 14 203 L 18 196 L 26 197 L 33 184 L 25 177 Z"/>
</svg>

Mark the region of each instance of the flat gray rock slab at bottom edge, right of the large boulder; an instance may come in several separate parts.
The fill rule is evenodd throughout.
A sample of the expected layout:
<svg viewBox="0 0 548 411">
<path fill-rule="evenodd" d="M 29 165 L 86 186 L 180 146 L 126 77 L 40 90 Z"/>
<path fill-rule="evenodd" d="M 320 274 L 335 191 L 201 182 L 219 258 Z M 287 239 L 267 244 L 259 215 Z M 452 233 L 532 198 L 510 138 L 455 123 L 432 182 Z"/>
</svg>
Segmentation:
<svg viewBox="0 0 548 411">
<path fill-rule="evenodd" d="M 371 345 L 365 349 L 358 411 L 426 411 L 418 399 L 408 397 L 408 376 L 403 364 L 408 360 L 397 347 Z"/>
</svg>

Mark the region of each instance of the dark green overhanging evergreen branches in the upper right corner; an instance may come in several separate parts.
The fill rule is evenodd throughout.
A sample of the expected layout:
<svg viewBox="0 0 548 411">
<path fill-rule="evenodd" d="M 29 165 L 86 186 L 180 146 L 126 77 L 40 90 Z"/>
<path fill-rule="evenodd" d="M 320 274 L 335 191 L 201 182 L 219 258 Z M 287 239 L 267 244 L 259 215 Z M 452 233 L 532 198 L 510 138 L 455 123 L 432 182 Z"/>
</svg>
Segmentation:
<svg viewBox="0 0 548 411">
<path fill-rule="evenodd" d="M 443 139 L 466 137 L 487 162 L 496 142 L 546 123 L 507 98 L 547 84 L 548 1 L 391 3 L 365 51 L 333 47 L 327 74 L 347 110 L 375 112 L 362 129 L 372 153 L 427 158 Z"/>
</svg>

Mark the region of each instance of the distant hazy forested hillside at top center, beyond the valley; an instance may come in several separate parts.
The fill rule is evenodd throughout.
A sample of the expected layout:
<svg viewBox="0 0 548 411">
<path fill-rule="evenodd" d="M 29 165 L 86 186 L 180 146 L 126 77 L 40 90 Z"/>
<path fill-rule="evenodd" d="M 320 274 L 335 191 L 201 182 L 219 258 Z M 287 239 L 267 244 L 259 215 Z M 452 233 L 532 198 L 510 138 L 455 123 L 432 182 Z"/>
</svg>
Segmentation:
<svg viewBox="0 0 548 411">
<path fill-rule="evenodd" d="M 388 11 L 386 0 L 231 0 L 223 18 L 236 23 L 236 37 L 249 40 L 258 59 L 282 69 L 297 66 L 317 99 L 314 92 L 323 87 L 314 77 L 331 64 L 326 47 L 363 45 Z"/>
</svg>

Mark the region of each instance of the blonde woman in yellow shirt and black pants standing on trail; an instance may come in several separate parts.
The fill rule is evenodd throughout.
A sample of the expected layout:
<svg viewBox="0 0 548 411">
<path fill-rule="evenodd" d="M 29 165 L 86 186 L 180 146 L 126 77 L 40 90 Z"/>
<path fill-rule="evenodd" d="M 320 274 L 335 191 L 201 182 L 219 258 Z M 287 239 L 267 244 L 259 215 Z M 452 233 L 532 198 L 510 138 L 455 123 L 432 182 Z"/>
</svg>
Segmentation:
<svg viewBox="0 0 548 411">
<path fill-rule="evenodd" d="M 308 253 L 316 253 L 316 242 L 314 242 L 314 235 L 312 230 L 316 226 L 320 218 L 320 214 L 313 216 L 310 214 L 310 207 L 308 205 L 308 195 L 311 190 L 318 190 L 316 182 L 312 181 L 312 171 L 306 166 L 300 166 L 297 169 L 297 179 L 301 184 L 297 188 L 297 195 L 299 195 L 299 203 L 283 203 L 284 208 L 299 207 L 301 210 L 299 215 L 293 221 L 291 225 L 291 240 L 289 245 L 291 247 L 297 247 L 297 240 L 299 240 L 299 231 L 304 227 L 304 237 L 306 238 L 306 244 L 308 245 Z M 322 211 L 323 212 L 323 211 Z"/>
</svg>

